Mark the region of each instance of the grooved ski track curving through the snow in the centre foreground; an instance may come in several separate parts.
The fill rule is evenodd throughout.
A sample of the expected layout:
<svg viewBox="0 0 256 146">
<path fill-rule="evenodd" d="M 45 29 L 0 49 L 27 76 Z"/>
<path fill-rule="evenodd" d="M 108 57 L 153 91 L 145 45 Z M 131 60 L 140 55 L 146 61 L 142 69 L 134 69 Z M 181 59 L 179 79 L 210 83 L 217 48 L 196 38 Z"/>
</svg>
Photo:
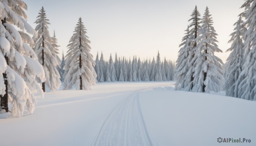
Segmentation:
<svg viewBox="0 0 256 146">
<path fill-rule="evenodd" d="M 93 146 L 155 146 L 140 107 L 140 90 L 129 94 L 103 122 Z"/>
</svg>

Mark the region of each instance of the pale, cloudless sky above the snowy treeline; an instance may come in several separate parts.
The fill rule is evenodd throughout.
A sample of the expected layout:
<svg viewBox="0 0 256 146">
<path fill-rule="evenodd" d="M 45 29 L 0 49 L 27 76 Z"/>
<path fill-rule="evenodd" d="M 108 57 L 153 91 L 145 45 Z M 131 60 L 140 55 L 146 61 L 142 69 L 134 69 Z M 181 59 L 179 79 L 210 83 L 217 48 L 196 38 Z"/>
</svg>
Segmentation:
<svg viewBox="0 0 256 146">
<path fill-rule="evenodd" d="M 91 54 L 103 52 L 105 60 L 110 53 L 119 57 L 166 57 L 176 60 L 181 38 L 189 24 L 190 15 L 198 6 L 201 16 L 206 6 L 213 18 L 218 34 L 217 53 L 223 62 L 231 44 L 229 35 L 233 24 L 243 11 L 243 0 L 24 0 L 28 5 L 29 24 L 35 28 L 35 20 L 42 6 L 47 14 L 50 34 L 55 30 L 58 49 L 67 52 L 67 45 L 79 17 L 87 29 L 91 41 Z M 61 56 L 61 55 L 60 55 Z"/>
</svg>

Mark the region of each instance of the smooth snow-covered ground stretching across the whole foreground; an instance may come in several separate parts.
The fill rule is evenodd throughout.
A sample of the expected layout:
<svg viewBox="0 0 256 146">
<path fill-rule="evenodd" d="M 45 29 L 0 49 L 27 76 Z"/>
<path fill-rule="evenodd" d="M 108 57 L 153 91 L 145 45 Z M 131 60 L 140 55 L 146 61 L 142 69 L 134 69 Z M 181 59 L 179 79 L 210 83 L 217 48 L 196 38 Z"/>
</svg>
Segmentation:
<svg viewBox="0 0 256 146">
<path fill-rule="evenodd" d="M 47 92 L 33 115 L 0 115 L 0 146 L 256 145 L 256 102 L 177 92 L 173 84 L 99 83 L 92 91 Z M 218 137 L 251 143 L 218 143 Z"/>
</svg>

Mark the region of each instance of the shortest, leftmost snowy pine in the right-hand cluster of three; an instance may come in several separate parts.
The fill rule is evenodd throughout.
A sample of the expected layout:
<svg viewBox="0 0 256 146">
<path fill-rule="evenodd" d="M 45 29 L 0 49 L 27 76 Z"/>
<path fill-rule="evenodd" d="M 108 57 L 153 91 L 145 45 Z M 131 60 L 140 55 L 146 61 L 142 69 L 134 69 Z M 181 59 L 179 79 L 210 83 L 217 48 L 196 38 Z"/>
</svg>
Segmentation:
<svg viewBox="0 0 256 146">
<path fill-rule="evenodd" d="M 191 86 L 189 86 L 189 83 L 191 83 L 191 74 L 187 73 L 189 71 L 189 68 L 191 68 L 190 66 L 190 62 L 191 62 L 191 58 L 192 58 L 192 46 L 191 46 L 191 37 L 190 37 L 190 33 L 189 33 L 189 26 L 188 28 L 185 30 L 185 36 L 182 38 L 182 43 L 180 44 L 179 47 L 180 51 L 178 54 L 178 58 L 176 60 L 176 68 L 175 68 L 175 90 L 185 90 L 185 91 L 189 91 L 191 89 Z M 190 55 L 189 55 L 190 54 Z M 166 66 L 168 66 L 167 61 L 164 61 L 164 66 L 165 68 L 167 68 Z M 170 69 L 169 69 L 170 70 Z M 171 80 L 170 74 L 166 74 L 168 80 Z M 186 80 L 187 79 L 187 80 Z M 190 84 L 191 85 L 191 84 Z M 189 87 L 188 87 L 189 86 Z"/>
</svg>

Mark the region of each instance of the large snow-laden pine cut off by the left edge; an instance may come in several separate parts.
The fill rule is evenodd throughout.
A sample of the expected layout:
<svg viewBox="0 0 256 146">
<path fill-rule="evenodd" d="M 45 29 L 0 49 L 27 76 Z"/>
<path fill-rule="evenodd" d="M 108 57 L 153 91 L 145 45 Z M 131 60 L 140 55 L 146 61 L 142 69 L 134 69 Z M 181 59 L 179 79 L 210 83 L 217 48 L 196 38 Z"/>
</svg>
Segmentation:
<svg viewBox="0 0 256 146">
<path fill-rule="evenodd" d="M 28 113 L 33 113 L 34 90 L 44 96 L 35 80 L 38 77 L 44 82 L 44 70 L 31 49 L 34 42 L 29 34 L 36 36 L 37 33 L 26 21 L 26 3 L 2 0 L 0 5 L 0 113 L 9 112 L 9 100 L 12 115 L 20 117 L 25 106 Z"/>
</svg>

